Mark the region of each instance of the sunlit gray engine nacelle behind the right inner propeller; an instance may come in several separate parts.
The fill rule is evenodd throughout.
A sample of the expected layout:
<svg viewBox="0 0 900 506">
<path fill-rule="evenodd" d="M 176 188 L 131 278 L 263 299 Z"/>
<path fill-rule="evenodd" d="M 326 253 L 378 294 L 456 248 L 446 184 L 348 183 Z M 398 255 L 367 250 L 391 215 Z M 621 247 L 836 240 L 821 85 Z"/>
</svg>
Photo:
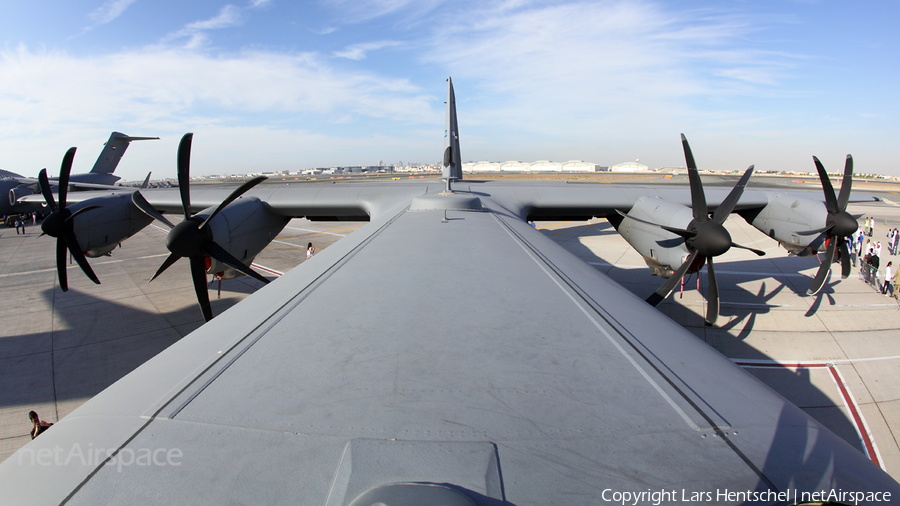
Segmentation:
<svg viewBox="0 0 900 506">
<path fill-rule="evenodd" d="M 691 208 L 656 197 L 638 198 L 628 216 L 681 229 L 687 229 L 694 220 Z M 670 277 L 690 254 L 684 238 L 653 225 L 624 218 L 616 230 L 657 276 Z"/>
</svg>

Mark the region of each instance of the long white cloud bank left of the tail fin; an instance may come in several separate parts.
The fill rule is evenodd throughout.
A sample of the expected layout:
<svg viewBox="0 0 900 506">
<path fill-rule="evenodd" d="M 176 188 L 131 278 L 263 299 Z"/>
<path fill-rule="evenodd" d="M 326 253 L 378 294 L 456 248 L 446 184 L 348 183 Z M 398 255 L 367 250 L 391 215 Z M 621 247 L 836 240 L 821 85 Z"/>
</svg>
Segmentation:
<svg viewBox="0 0 900 506">
<path fill-rule="evenodd" d="M 427 95 L 405 79 L 337 70 L 327 62 L 312 53 L 209 56 L 159 48 L 97 57 L 0 52 L 0 167 L 29 172 L 32 164 L 58 165 L 65 148 L 77 145 L 73 139 L 105 139 L 112 130 L 167 138 L 215 132 L 229 142 L 246 134 L 245 154 L 224 157 L 215 172 L 237 171 L 254 157 L 266 165 L 350 163 L 373 144 L 409 148 L 417 139 L 404 131 L 412 126 L 434 123 L 440 130 L 440 113 L 432 107 L 439 92 Z M 336 127 L 340 118 L 386 128 Z M 339 133 L 310 133 L 328 130 Z M 274 138 L 293 140 L 279 146 Z M 236 149 L 211 142 L 217 152 Z M 437 153 L 439 132 L 434 142 Z M 254 146 L 268 151 L 262 155 Z M 146 169 L 131 166 L 136 173 L 130 173 L 128 167 L 123 163 L 135 179 Z"/>
</svg>

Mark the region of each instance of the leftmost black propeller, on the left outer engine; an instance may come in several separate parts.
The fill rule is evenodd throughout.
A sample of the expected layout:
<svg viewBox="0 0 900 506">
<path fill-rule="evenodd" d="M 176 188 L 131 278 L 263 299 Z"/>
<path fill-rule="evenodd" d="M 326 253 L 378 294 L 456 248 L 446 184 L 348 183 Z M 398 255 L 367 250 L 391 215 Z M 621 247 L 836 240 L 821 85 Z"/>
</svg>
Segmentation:
<svg viewBox="0 0 900 506">
<path fill-rule="evenodd" d="M 100 284 L 94 270 L 84 257 L 81 246 L 78 245 L 78 239 L 75 237 L 75 222 L 73 218 L 81 213 L 85 213 L 100 206 L 88 205 L 72 212 L 66 207 L 66 192 L 69 189 L 69 172 L 72 170 L 72 160 L 75 159 L 75 148 L 69 148 L 63 157 L 62 165 L 59 168 L 59 205 L 53 200 L 53 193 L 50 191 L 50 180 L 47 178 L 47 169 L 41 169 L 38 174 L 38 181 L 41 185 L 41 194 L 50 208 L 50 214 L 44 218 L 41 224 L 43 234 L 50 237 L 56 237 L 56 271 L 59 273 L 59 287 L 62 291 L 69 290 L 69 282 L 66 275 L 66 250 L 72 254 L 72 258 L 78 262 L 81 270 L 96 284 Z"/>
</svg>

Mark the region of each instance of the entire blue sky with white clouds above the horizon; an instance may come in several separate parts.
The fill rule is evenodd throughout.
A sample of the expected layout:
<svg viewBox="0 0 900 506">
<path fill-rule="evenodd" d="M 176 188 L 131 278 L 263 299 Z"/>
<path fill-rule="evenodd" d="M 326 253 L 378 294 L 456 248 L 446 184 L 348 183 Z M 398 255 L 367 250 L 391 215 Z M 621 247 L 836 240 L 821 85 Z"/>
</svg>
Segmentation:
<svg viewBox="0 0 900 506">
<path fill-rule="evenodd" d="M 195 174 L 463 159 L 900 175 L 893 1 L 0 1 L 0 168 Z"/>
</svg>

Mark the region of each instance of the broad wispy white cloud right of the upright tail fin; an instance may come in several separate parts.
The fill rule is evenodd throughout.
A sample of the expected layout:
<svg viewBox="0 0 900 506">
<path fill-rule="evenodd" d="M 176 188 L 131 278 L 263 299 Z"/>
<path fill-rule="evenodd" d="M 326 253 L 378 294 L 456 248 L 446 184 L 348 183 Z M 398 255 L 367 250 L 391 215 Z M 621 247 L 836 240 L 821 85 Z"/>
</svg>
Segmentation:
<svg viewBox="0 0 900 506">
<path fill-rule="evenodd" d="M 538 149 L 620 149 L 740 121 L 717 101 L 780 93 L 796 60 L 748 48 L 748 19 L 652 2 L 508 2 L 448 16 L 425 63 L 454 77 L 470 128 L 543 136 Z M 477 94 L 460 94 L 466 86 Z M 640 155 L 625 151 L 617 158 Z"/>
</svg>

